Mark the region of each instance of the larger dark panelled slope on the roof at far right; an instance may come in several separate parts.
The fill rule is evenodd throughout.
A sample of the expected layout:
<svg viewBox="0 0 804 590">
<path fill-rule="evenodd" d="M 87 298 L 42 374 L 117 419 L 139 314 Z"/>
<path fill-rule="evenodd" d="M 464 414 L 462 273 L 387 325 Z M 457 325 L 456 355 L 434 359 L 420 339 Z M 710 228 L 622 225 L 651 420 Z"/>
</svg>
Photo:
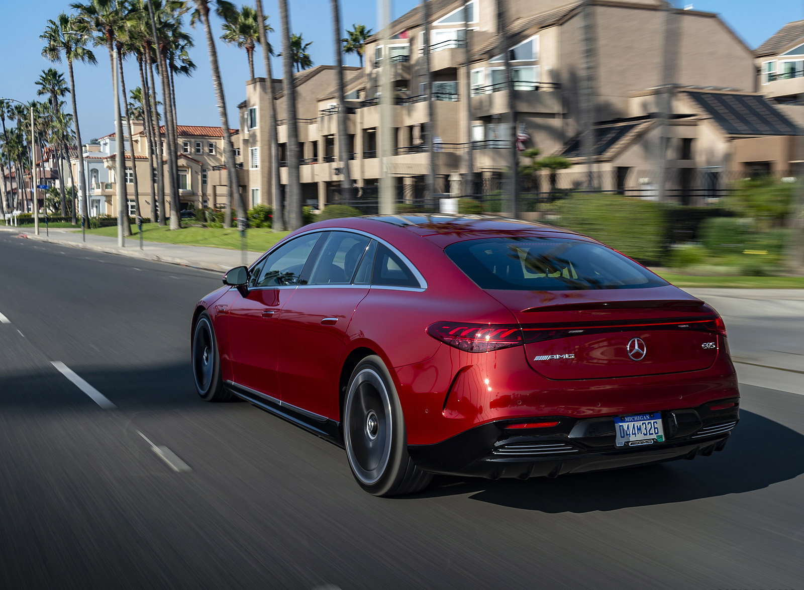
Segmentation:
<svg viewBox="0 0 804 590">
<path fill-rule="evenodd" d="M 728 135 L 798 135 L 801 130 L 756 94 L 685 91 Z"/>
</svg>

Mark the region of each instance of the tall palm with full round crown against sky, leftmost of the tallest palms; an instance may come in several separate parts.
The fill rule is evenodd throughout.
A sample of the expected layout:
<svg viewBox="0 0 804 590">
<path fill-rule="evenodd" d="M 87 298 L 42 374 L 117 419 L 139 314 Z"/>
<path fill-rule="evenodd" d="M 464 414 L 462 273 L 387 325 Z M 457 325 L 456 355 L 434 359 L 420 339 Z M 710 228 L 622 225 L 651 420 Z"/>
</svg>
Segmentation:
<svg viewBox="0 0 804 590">
<path fill-rule="evenodd" d="M 47 28 L 39 39 L 45 42 L 42 55 L 51 62 L 61 63 L 62 55 L 67 59 L 67 69 L 70 75 L 70 97 L 72 100 L 72 121 L 76 125 L 76 145 L 78 145 L 78 169 L 83 199 L 84 217 L 89 215 L 89 199 L 87 191 L 87 177 L 84 174 L 84 148 L 81 143 L 81 130 L 78 125 L 78 107 L 76 101 L 76 80 L 72 73 L 72 64 L 75 61 L 84 64 L 97 64 L 95 55 L 87 47 L 88 36 L 78 28 L 76 17 L 61 13 L 54 20 L 47 21 Z M 72 171 L 72 166 L 70 166 Z M 76 207 L 73 207 L 75 215 Z"/>
</svg>

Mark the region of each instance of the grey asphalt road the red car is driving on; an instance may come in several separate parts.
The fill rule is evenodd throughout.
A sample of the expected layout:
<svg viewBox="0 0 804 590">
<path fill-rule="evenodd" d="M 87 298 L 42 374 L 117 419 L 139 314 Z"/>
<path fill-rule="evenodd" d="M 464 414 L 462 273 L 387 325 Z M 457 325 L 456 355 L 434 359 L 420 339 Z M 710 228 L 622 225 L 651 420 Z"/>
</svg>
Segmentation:
<svg viewBox="0 0 804 590">
<path fill-rule="evenodd" d="M 0 588 L 804 588 L 804 395 L 742 387 L 712 457 L 373 498 L 342 450 L 197 399 L 216 285 L 0 234 Z"/>
</svg>

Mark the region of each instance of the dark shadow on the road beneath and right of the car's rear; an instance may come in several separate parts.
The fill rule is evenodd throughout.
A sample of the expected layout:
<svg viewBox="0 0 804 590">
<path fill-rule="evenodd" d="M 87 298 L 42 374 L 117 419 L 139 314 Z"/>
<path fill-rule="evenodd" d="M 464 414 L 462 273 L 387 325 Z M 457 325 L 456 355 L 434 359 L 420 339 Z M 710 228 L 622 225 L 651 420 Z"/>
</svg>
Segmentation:
<svg viewBox="0 0 804 590">
<path fill-rule="evenodd" d="M 804 473 L 801 457 L 804 436 L 740 410 L 726 449 L 711 457 L 527 481 L 441 476 L 411 498 L 470 494 L 481 502 L 547 513 L 619 510 L 761 490 Z"/>
</svg>

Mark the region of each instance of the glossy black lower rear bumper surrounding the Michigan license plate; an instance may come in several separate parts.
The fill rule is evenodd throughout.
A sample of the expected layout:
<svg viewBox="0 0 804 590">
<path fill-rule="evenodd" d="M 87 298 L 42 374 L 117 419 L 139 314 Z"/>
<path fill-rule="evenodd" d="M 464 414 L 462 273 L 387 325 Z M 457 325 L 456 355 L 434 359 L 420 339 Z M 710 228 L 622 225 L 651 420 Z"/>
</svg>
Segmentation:
<svg viewBox="0 0 804 590">
<path fill-rule="evenodd" d="M 694 459 L 724 449 L 739 420 L 738 399 L 731 408 L 713 411 L 712 404 L 662 412 L 667 440 L 638 447 L 614 445 L 613 420 L 568 419 L 562 416 L 544 433 L 511 434 L 511 420 L 482 424 L 435 445 L 408 445 L 408 453 L 420 469 L 430 473 L 475 477 L 556 477 L 564 473 L 589 473 L 650 465 L 676 459 Z M 522 421 L 522 420 L 518 420 Z M 539 429 L 542 430 L 542 429 Z"/>
</svg>

